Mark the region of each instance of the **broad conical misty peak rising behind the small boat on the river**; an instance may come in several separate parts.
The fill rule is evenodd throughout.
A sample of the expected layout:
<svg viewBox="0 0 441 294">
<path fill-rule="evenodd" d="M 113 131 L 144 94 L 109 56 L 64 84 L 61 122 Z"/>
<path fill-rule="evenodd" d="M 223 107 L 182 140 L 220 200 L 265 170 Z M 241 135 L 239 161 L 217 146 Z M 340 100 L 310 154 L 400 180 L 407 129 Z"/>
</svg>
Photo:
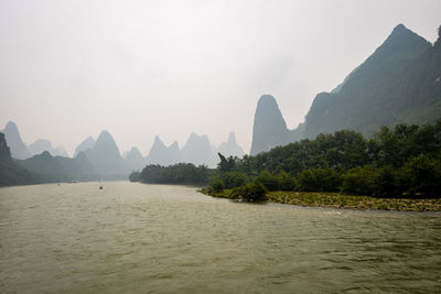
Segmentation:
<svg viewBox="0 0 441 294">
<path fill-rule="evenodd" d="M 103 131 L 93 149 L 84 151 L 96 171 L 105 178 L 122 178 L 130 168 L 122 160 L 114 138 L 108 131 Z M 79 153 L 78 153 L 79 154 Z"/>
</svg>

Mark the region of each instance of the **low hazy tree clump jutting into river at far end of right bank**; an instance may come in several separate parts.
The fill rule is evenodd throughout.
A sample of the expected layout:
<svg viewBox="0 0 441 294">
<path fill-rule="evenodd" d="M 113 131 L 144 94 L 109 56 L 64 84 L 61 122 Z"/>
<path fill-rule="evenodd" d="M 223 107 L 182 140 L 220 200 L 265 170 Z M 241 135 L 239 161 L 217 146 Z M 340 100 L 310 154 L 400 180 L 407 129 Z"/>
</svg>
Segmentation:
<svg viewBox="0 0 441 294">
<path fill-rule="evenodd" d="M 205 165 L 179 163 L 170 166 L 147 165 L 141 172 L 142 183 L 207 184 L 211 171 Z"/>
</svg>

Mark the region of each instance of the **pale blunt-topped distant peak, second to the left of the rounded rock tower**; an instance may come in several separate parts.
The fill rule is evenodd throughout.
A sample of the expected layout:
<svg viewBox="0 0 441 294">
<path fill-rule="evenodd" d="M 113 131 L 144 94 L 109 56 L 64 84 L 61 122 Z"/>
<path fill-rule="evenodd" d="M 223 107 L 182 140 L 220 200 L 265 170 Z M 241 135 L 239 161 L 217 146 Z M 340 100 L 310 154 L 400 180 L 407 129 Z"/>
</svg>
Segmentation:
<svg viewBox="0 0 441 294">
<path fill-rule="evenodd" d="M 182 148 L 182 156 L 185 163 L 193 163 L 195 165 L 205 164 L 208 167 L 215 167 L 217 164 L 217 156 L 213 154 L 208 137 L 198 135 L 192 132 Z"/>
</svg>

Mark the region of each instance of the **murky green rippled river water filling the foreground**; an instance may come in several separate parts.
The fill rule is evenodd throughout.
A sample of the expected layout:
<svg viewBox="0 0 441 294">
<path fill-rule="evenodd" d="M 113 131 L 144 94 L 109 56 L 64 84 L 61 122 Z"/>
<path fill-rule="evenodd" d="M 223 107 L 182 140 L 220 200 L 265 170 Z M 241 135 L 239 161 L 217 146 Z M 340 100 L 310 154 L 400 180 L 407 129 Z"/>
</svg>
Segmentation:
<svg viewBox="0 0 441 294">
<path fill-rule="evenodd" d="M 441 292 L 441 215 L 123 182 L 0 188 L 0 292 Z"/>
</svg>

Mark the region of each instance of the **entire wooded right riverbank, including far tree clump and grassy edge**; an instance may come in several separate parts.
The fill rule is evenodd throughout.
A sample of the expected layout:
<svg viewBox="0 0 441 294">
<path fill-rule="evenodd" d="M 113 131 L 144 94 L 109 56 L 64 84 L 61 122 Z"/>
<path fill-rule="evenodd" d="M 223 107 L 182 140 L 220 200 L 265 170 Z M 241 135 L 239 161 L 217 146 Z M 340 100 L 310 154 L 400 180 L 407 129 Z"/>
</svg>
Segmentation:
<svg viewBox="0 0 441 294">
<path fill-rule="evenodd" d="M 217 168 L 146 166 L 132 181 L 204 185 L 203 193 L 276 202 L 391 210 L 440 210 L 441 120 L 320 134 L 241 159 L 218 154 Z M 401 200 L 398 200 L 401 199 Z"/>
</svg>

